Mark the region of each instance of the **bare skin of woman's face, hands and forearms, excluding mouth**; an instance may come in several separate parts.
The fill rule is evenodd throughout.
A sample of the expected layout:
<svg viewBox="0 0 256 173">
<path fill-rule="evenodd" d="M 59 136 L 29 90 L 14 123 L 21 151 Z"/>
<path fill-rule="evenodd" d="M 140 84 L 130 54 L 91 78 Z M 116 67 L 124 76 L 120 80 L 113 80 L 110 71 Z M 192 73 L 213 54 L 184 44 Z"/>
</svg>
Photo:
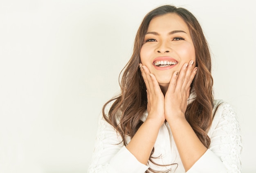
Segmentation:
<svg viewBox="0 0 256 173">
<path fill-rule="evenodd" d="M 182 32 L 170 34 L 171 31 Z M 148 117 L 126 148 L 139 162 L 147 164 L 158 131 L 166 120 L 188 171 L 207 151 L 185 119 L 190 85 L 197 71 L 189 28 L 180 16 L 168 13 L 153 18 L 147 32 L 150 33 L 145 35 L 141 47 L 139 67 L 147 88 Z M 157 70 L 152 63 L 159 56 L 175 58 L 178 64 L 172 69 Z"/>
</svg>

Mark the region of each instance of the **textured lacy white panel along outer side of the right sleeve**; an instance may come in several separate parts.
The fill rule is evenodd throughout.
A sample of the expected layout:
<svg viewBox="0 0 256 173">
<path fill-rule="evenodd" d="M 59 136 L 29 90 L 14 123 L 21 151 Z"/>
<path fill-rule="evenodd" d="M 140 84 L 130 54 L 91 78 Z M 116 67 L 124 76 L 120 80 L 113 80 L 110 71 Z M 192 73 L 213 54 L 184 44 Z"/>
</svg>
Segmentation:
<svg viewBox="0 0 256 173">
<path fill-rule="evenodd" d="M 240 125 L 238 118 L 229 104 L 226 104 L 220 122 L 225 123 L 222 125 L 223 131 L 228 135 L 222 136 L 220 146 L 221 151 L 228 151 L 227 155 L 221 156 L 221 160 L 228 173 L 241 173 L 242 163 L 240 153 L 242 150 L 242 142 L 240 135 Z"/>
</svg>

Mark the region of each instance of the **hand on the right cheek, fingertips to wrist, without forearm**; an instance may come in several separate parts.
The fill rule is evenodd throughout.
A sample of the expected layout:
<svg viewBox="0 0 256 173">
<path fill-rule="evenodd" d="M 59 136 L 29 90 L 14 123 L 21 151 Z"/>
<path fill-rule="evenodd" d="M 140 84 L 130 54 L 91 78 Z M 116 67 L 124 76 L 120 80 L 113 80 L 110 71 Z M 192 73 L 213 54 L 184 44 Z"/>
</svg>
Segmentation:
<svg viewBox="0 0 256 173">
<path fill-rule="evenodd" d="M 173 118 L 184 117 L 190 85 L 197 69 L 198 67 L 194 67 L 194 61 L 191 60 L 182 66 L 179 74 L 177 71 L 173 73 L 164 98 L 164 113 L 168 122 Z"/>
</svg>

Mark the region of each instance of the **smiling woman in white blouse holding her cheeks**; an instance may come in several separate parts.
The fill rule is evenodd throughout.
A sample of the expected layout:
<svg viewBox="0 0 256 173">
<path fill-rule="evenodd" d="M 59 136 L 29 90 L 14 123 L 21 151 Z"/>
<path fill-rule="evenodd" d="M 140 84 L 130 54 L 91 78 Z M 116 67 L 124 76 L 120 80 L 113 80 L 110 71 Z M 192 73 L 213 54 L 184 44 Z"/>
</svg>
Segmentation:
<svg viewBox="0 0 256 173">
<path fill-rule="evenodd" d="M 121 94 L 103 106 L 88 172 L 239 173 L 239 124 L 229 104 L 213 100 L 212 87 L 196 18 L 170 5 L 150 11 Z"/>
</svg>

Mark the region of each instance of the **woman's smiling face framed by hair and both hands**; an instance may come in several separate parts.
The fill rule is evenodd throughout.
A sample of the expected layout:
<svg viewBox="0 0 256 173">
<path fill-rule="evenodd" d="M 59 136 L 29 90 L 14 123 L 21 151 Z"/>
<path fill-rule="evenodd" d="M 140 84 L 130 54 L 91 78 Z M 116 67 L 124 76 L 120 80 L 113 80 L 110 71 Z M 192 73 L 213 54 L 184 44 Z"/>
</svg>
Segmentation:
<svg viewBox="0 0 256 173">
<path fill-rule="evenodd" d="M 141 63 L 153 73 L 160 86 L 168 86 L 175 71 L 195 61 L 195 49 L 184 20 L 175 13 L 150 21 L 140 52 Z M 195 63 L 194 63 L 195 64 Z"/>
</svg>

